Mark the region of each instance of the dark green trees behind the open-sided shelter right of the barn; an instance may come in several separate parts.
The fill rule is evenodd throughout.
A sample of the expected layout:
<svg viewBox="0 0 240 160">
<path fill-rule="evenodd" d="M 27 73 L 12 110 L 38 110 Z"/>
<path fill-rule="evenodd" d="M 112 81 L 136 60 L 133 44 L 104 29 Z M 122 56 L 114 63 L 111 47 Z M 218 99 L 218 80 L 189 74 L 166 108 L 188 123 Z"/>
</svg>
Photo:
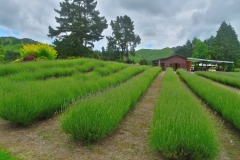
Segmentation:
<svg viewBox="0 0 240 160">
<path fill-rule="evenodd" d="M 235 67 L 240 67 L 240 43 L 234 28 L 225 21 L 215 37 L 211 36 L 204 41 L 194 37 L 173 50 L 175 54 L 185 57 L 234 61 Z"/>
</svg>

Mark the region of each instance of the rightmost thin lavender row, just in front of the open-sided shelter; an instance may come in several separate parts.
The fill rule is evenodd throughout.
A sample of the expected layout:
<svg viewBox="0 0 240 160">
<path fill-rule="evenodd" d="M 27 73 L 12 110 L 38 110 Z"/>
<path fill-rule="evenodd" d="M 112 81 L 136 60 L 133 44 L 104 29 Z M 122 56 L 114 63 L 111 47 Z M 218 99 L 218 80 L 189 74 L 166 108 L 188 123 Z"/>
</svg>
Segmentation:
<svg viewBox="0 0 240 160">
<path fill-rule="evenodd" d="M 239 73 L 224 73 L 224 72 L 195 72 L 195 73 L 199 76 L 206 77 L 216 82 L 240 88 Z"/>
</svg>

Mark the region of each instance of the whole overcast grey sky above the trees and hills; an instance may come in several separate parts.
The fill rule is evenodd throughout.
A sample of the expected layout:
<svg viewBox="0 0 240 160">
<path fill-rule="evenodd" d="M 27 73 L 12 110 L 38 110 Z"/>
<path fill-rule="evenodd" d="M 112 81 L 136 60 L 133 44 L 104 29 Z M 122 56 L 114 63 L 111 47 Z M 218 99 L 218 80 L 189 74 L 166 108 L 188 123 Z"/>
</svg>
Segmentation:
<svg viewBox="0 0 240 160">
<path fill-rule="evenodd" d="M 0 36 L 51 43 L 48 26 L 58 25 L 54 8 L 59 9 L 61 1 L 0 0 Z M 117 16 L 129 16 L 142 39 L 137 49 L 183 45 L 195 36 L 204 40 L 216 35 L 222 21 L 230 23 L 240 37 L 240 0 L 99 0 L 97 10 L 108 24 Z M 111 33 L 109 25 L 103 35 Z M 106 45 L 104 38 L 95 49 Z"/>
</svg>

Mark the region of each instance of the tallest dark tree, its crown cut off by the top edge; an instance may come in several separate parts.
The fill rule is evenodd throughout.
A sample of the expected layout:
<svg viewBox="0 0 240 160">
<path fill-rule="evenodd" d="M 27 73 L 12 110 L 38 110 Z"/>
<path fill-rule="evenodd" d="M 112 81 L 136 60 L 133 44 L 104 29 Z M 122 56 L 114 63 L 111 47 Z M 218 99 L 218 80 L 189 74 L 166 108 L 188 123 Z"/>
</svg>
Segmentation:
<svg viewBox="0 0 240 160">
<path fill-rule="evenodd" d="M 107 21 L 99 16 L 96 6 L 94 0 L 64 0 L 60 10 L 54 9 L 60 15 L 56 17 L 59 26 L 56 29 L 49 26 L 48 36 L 56 37 L 54 45 L 59 57 L 88 56 L 93 43 L 103 38 Z"/>
</svg>

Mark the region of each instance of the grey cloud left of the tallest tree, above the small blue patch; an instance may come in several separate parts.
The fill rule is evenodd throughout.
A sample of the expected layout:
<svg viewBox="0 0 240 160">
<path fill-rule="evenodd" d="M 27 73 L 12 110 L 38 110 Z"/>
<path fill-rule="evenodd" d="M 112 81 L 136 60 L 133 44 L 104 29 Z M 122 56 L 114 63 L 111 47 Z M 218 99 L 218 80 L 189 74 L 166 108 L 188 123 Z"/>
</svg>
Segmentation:
<svg viewBox="0 0 240 160">
<path fill-rule="evenodd" d="M 39 41 L 47 38 L 48 26 L 56 25 L 54 8 L 59 2 L 51 0 L 9 0 L 0 6 L 0 26 L 17 31 L 20 37 Z"/>
</svg>

